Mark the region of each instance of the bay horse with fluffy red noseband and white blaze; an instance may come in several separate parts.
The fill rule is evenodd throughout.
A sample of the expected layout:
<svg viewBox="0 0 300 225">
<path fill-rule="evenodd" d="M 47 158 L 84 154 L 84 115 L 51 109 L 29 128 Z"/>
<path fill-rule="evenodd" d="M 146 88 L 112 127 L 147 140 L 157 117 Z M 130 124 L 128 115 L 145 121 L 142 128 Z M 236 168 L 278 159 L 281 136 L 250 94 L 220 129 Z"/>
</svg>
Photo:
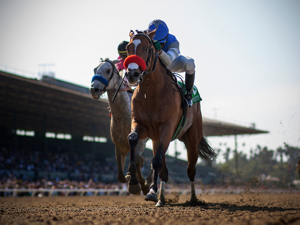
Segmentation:
<svg viewBox="0 0 300 225">
<path fill-rule="evenodd" d="M 155 32 L 156 30 L 152 32 L 137 31 L 137 34 L 134 34 L 131 30 L 129 33 L 131 39 L 127 45 L 128 57 L 124 62 L 124 66 L 127 68 L 125 75 L 129 85 L 137 86 L 131 100 L 131 133 L 128 135 L 130 146 L 128 170 L 131 178 L 128 190 L 130 193 L 140 191 L 139 180 L 134 175 L 137 169 L 135 151 L 138 140 L 149 137 L 153 144 L 153 177 L 145 200 L 157 202 L 156 206 L 163 206 L 165 205 L 165 187 L 168 181 L 165 154 L 181 121 L 184 100 L 176 90 L 177 84 L 174 85 L 174 77 L 167 74 L 167 70 L 159 60 L 155 62 L 158 55 L 152 40 Z M 191 185 L 190 200 L 197 201 L 194 178 L 198 157 L 211 160 L 216 157 L 216 154 L 203 136 L 200 102 L 187 108 L 186 117 L 185 126 L 176 138 L 182 141 L 187 149 L 187 175 Z M 156 194 L 158 175 L 161 179 L 159 197 Z"/>
</svg>

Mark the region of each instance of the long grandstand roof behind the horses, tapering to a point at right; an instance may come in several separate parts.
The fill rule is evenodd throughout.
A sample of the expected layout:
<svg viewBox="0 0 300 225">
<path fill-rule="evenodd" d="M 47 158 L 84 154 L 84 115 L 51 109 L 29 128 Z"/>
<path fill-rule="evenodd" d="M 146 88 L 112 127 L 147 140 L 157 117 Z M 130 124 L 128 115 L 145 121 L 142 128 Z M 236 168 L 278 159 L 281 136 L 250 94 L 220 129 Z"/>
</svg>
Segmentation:
<svg viewBox="0 0 300 225">
<path fill-rule="evenodd" d="M 42 81 L 0 71 L 0 127 L 110 138 L 107 100 L 54 78 Z M 266 133 L 203 118 L 206 136 Z"/>
</svg>

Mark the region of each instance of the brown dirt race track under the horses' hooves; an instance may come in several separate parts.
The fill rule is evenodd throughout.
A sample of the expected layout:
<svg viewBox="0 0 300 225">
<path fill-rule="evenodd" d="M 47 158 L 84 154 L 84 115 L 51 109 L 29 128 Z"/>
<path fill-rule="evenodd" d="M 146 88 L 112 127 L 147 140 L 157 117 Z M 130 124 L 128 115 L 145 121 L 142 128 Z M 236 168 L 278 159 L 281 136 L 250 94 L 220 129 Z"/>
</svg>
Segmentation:
<svg viewBox="0 0 300 225">
<path fill-rule="evenodd" d="M 167 197 L 167 196 L 166 196 Z M 300 224 L 300 193 L 167 198 L 144 196 L 1 197 L 1 224 Z"/>
</svg>

